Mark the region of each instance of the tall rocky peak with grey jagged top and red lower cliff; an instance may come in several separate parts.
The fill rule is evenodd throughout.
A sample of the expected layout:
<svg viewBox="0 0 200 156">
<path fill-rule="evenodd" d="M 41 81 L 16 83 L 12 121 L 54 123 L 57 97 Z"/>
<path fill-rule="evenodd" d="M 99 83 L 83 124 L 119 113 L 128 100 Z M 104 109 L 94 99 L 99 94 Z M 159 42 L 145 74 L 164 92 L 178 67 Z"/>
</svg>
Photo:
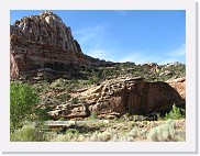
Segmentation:
<svg viewBox="0 0 200 156">
<path fill-rule="evenodd" d="M 10 34 L 11 79 L 40 68 L 66 70 L 69 64 L 110 64 L 85 55 L 70 27 L 51 11 L 16 20 L 10 26 Z"/>
</svg>

